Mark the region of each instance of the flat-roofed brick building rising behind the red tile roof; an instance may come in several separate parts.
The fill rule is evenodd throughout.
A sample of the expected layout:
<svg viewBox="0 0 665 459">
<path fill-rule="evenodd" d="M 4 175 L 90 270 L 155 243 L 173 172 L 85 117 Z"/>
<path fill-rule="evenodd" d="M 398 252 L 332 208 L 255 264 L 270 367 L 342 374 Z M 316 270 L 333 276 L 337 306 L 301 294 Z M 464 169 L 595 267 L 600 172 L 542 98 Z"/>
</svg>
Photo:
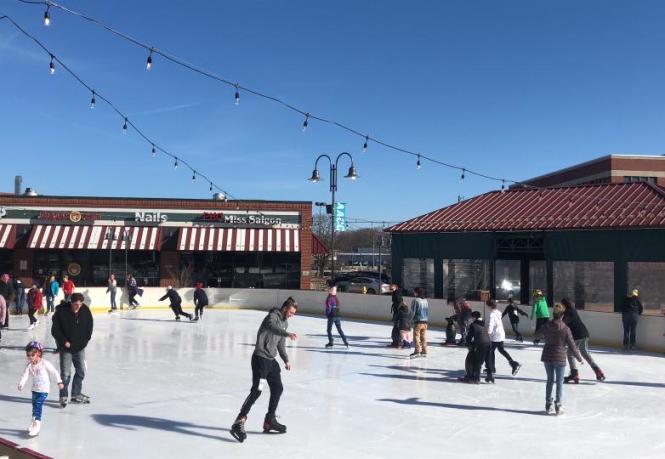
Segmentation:
<svg viewBox="0 0 665 459">
<path fill-rule="evenodd" d="M 608 155 L 522 181 L 537 187 L 633 182 L 665 186 L 665 156 Z"/>
</svg>

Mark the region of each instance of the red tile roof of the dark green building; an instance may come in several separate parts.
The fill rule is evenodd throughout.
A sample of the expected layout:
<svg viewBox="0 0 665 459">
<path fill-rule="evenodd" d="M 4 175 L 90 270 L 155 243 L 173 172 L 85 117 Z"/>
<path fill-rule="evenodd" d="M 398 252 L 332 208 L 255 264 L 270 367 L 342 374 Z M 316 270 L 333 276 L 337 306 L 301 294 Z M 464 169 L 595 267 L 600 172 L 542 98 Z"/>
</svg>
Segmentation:
<svg viewBox="0 0 665 459">
<path fill-rule="evenodd" d="M 387 228 L 392 233 L 665 228 L 651 183 L 492 191 Z"/>
</svg>

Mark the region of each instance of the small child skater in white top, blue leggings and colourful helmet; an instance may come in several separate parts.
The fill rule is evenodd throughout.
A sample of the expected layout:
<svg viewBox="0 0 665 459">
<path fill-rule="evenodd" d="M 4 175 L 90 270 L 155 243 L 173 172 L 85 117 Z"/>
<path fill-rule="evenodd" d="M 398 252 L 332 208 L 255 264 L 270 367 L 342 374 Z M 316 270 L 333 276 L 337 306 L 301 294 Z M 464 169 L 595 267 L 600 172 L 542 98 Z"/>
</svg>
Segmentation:
<svg viewBox="0 0 665 459">
<path fill-rule="evenodd" d="M 48 397 L 48 391 L 51 386 L 49 373 L 58 382 L 58 388 L 62 390 L 65 386 L 62 384 L 60 374 L 58 374 L 58 370 L 55 369 L 53 364 L 48 360 L 42 359 L 44 346 L 41 343 L 30 341 L 25 347 L 25 353 L 28 357 L 28 366 L 25 368 L 21 381 L 18 383 L 18 390 L 23 390 L 28 377 L 32 376 L 32 421 L 30 422 L 30 427 L 28 427 L 28 435 L 35 437 L 39 435 L 39 430 L 41 429 L 42 407 Z"/>
</svg>

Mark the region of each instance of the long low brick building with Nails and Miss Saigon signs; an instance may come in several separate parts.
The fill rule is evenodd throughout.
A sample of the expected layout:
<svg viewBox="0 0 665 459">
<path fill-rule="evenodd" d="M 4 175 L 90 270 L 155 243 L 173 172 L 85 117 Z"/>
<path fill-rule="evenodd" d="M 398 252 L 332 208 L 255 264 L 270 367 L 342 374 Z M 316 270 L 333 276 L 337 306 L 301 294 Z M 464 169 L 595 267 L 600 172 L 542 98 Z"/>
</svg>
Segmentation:
<svg viewBox="0 0 665 459">
<path fill-rule="evenodd" d="M 77 286 L 306 288 L 312 204 L 305 201 L 0 195 L 0 272 Z"/>
</svg>

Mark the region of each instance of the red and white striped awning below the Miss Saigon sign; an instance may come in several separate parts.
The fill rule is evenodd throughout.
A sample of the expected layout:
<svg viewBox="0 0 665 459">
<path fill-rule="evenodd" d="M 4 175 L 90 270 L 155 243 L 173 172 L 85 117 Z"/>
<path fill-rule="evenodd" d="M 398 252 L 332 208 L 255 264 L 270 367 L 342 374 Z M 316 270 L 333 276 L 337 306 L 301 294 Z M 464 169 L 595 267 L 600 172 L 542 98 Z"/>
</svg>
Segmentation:
<svg viewBox="0 0 665 459">
<path fill-rule="evenodd" d="M 277 228 L 180 228 L 179 250 L 300 252 L 300 230 Z"/>
</svg>

